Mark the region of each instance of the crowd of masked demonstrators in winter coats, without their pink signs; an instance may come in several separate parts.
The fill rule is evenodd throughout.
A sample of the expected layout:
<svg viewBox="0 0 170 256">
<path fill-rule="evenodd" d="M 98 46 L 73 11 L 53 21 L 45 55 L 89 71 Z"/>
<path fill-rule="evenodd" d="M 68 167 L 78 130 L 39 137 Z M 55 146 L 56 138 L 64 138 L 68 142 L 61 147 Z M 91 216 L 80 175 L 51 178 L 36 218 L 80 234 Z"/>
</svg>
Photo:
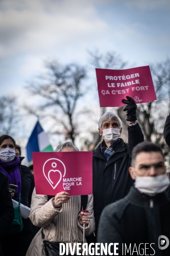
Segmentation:
<svg viewBox="0 0 170 256">
<path fill-rule="evenodd" d="M 37 195 L 33 168 L 21 164 L 20 146 L 11 136 L 0 136 L 0 256 L 59 255 L 60 243 L 72 247 L 80 243 L 81 253 L 83 229 L 85 242 L 118 243 L 119 255 L 170 255 L 170 179 L 164 155 L 159 145 L 144 141 L 133 99 L 127 96 L 122 102 L 129 122 L 128 143 L 120 138 L 119 116 L 112 112 L 101 116 L 103 140 L 93 151 L 93 195 L 70 196 L 65 191 Z M 164 137 L 170 146 L 170 116 Z M 79 148 L 65 142 L 55 151 Z M 16 233 L 18 212 L 11 198 L 31 208 L 29 218 L 22 217 L 22 230 Z M 118 255 L 113 246 L 110 250 Z"/>
</svg>

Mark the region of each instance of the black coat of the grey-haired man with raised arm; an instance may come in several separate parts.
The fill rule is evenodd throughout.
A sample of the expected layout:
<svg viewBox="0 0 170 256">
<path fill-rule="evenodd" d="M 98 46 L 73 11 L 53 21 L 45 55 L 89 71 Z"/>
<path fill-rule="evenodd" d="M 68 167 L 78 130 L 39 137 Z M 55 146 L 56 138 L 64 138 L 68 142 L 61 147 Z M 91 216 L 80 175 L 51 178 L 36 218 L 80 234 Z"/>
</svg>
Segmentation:
<svg viewBox="0 0 170 256">
<path fill-rule="evenodd" d="M 128 127 L 128 144 L 122 139 L 108 163 L 101 151 L 101 144 L 93 151 L 93 195 L 96 231 L 104 207 L 124 198 L 134 181 L 128 172 L 131 152 L 144 140 L 139 124 Z"/>
</svg>

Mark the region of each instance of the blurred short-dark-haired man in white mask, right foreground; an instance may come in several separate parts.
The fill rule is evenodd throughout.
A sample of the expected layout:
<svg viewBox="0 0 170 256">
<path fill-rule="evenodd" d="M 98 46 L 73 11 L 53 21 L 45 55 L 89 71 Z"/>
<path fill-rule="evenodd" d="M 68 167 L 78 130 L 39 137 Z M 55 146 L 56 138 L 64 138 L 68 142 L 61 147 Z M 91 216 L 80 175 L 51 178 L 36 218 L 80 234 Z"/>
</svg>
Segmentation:
<svg viewBox="0 0 170 256">
<path fill-rule="evenodd" d="M 134 186 L 104 209 L 98 242 L 119 243 L 119 255 L 169 256 L 170 201 L 164 191 L 170 180 L 162 150 L 154 143 L 140 143 L 133 148 L 131 163 Z"/>
</svg>

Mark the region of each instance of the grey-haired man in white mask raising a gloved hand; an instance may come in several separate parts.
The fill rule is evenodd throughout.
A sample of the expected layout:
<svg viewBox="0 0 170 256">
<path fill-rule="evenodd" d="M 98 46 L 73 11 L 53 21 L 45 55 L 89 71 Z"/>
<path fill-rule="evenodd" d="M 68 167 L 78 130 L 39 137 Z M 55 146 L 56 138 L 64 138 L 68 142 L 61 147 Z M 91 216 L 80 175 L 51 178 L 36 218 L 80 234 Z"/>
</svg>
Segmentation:
<svg viewBox="0 0 170 256">
<path fill-rule="evenodd" d="M 144 140 L 142 130 L 136 122 L 136 103 L 130 97 L 122 102 L 127 104 L 126 120 L 128 126 L 128 144 L 119 138 L 122 133 L 122 121 L 115 113 L 107 112 L 99 119 L 99 134 L 102 142 L 93 151 L 93 195 L 94 217 L 97 234 L 99 218 L 108 204 L 124 198 L 133 185 L 128 169 L 134 146 Z"/>
</svg>

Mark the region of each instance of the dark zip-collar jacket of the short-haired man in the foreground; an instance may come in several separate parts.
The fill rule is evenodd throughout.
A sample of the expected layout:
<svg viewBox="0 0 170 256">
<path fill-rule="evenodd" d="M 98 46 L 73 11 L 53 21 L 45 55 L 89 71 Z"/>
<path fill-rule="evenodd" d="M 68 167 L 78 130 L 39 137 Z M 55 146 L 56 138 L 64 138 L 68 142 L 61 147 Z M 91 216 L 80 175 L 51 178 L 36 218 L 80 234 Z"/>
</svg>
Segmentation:
<svg viewBox="0 0 170 256">
<path fill-rule="evenodd" d="M 116 250 L 119 255 L 170 256 L 170 245 L 167 248 L 166 243 L 161 245 L 164 240 L 159 240 L 161 235 L 170 241 L 170 201 L 164 192 L 150 197 L 132 186 L 125 198 L 108 205 L 102 212 L 97 242 L 119 243 Z M 131 244 L 128 253 L 127 250 L 125 253 L 125 244 L 127 249 Z M 148 249 L 143 250 L 144 247 Z M 133 248 L 134 251 L 137 248 L 137 252 L 133 253 Z"/>
</svg>

